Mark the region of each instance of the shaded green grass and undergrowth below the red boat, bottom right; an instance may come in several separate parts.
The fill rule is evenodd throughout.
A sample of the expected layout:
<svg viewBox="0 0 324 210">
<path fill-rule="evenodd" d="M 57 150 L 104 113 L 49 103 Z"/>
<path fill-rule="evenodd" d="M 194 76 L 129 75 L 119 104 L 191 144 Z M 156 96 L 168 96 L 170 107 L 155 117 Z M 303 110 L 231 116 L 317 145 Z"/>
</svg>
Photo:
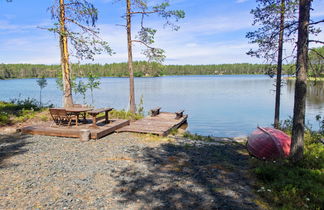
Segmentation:
<svg viewBox="0 0 324 210">
<path fill-rule="evenodd" d="M 276 208 L 323 208 L 324 144 L 318 141 L 323 137 L 315 132 L 305 134 L 304 159 L 298 164 L 253 159 L 257 192 Z"/>
</svg>

